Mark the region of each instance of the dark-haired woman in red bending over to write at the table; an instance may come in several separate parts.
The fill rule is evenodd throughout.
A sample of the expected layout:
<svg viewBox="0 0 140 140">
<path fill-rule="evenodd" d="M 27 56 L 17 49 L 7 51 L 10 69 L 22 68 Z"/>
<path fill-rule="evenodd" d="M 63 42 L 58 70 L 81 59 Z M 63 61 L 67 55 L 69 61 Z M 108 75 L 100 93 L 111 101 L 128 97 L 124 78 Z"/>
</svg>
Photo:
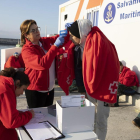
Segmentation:
<svg viewBox="0 0 140 140">
<path fill-rule="evenodd" d="M 30 84 L 28 76 L 14 68 L 0 72 L 0 140 L 18 140 L 15 128 L 27 124 L 34 111 L 16 109 L 16 97 L 23 94 Z"/>
</svg>

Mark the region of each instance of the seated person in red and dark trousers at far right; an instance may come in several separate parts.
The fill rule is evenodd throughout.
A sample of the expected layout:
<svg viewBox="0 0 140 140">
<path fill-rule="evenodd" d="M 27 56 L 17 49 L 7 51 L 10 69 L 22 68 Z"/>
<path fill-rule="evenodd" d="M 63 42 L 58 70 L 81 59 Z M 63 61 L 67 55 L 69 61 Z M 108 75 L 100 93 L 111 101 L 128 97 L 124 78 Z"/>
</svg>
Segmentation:
<svg viewBox="0 0 140 140">
<path fill-rule="evenodd" d="M 134 71 L 131 71 L 130 68 L 123 66 L 120 61 L 120 75 L 119 75 L 119 84 L 117 89 L 117 102 L 115 106 L 119 106 L 119 96 L 120 95 L 134 95 L 139 94 L 137 89 L 139 87 L 139 80 Z"/>
</svg>

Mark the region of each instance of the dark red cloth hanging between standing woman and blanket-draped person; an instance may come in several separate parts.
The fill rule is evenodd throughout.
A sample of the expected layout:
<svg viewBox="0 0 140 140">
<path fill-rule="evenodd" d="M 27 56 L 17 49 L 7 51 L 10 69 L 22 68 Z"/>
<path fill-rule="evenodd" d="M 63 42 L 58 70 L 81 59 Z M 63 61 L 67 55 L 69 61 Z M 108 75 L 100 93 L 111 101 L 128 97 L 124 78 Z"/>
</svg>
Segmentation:
<svg viewBox="0 0 140 140">
<path fill-rule="evenodd" d="M 69 86 L 75 77 L 74 75 L 74 44 L 68 41 L 64 44 L 65 50 L 59 50 L 56 59 L 56 72 L 59 86 L 69 95 Z"/>
</svg>

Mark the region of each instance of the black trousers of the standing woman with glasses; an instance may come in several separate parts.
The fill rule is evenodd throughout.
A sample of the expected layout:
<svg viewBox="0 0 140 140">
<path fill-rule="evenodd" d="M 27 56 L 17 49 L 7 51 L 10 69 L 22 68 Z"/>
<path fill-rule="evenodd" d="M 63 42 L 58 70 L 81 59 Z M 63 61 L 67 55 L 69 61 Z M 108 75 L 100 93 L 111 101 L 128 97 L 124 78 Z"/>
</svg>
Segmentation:
<svg viewBox="0 0 140 140">
<path fill-rule="evenodd" d="M 29 108 L 47 107 L 53 104 L 54 89 L 49 92 L 25 90 L 25 95 Z"/>
</svg>

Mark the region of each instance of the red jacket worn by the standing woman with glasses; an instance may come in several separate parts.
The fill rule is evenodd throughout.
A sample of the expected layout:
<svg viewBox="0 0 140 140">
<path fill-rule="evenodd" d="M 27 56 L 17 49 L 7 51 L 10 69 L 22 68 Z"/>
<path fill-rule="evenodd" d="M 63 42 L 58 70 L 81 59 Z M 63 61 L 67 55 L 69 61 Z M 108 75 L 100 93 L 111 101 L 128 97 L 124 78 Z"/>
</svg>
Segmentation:
<svg viewBox="0 0 140 140">
<path fill-rule="evenodd" d="M 40 39 L 44 49 L 48 51 L 46 54 L 40 46 L 26 40 L 21 55 L 26 67 L 25 73 L 30 79 L 28 90 L 49 90 L 49 68 L 59 50 L 52 45 L 57 37 L 43 37 Z"/>
</svg>

